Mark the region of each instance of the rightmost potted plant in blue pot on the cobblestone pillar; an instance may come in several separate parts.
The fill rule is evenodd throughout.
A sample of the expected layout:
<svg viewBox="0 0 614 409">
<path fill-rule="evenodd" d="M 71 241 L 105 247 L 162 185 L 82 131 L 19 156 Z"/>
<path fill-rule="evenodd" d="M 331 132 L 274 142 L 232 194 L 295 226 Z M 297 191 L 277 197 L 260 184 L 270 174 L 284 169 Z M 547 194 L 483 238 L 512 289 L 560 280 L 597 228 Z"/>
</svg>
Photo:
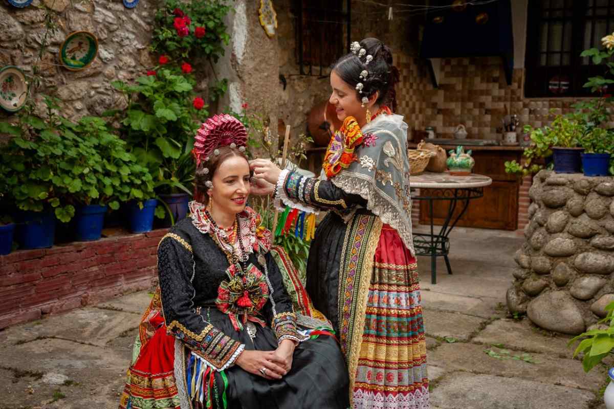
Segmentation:
<svg viewBox="0 0 614 409">
<path fill-rule="evenodd" d="M 614 134 L 603 128 L 594 128 L 581 139 L 584 148 L 582 167 L 586 176 L 607 176 L 610 156 L 614 151 Z"/>
</svg>

